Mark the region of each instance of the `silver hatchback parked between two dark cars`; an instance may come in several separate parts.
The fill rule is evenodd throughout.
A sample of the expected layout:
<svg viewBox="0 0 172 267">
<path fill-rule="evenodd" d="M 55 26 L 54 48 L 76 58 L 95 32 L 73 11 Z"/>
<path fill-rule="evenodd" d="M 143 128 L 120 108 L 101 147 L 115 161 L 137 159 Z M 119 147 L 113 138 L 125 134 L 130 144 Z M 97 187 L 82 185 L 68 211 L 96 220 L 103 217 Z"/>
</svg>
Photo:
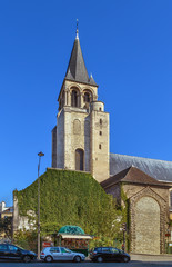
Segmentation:
<svg viewBox="0 0 172 267">
<path fill-rule="evenodd" d="M 85 259 L 85 256 L 84 254 L 74 253 L 64 247 L 47 247 L 41 251 L 40 258 L 47 263 L 53 260 L 73 260 L 80 263 Z"/>
</svg>

